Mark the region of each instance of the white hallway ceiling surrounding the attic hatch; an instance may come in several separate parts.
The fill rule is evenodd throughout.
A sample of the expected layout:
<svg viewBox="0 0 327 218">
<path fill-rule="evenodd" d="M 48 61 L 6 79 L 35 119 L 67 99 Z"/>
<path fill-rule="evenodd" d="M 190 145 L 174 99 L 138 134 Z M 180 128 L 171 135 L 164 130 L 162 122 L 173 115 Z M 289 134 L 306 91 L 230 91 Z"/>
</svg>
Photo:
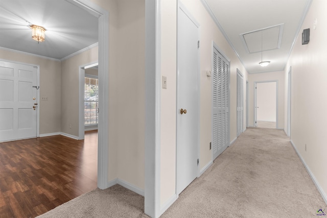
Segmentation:
<svg viewBox="0 0 327 218">
<path fill-rule="evenodd" d="M 270 72 L 284 70 L 292 44 L 300 30 L 303 16 L 306 15 L 311 0 L 202 0 L 207 4 L 216 17 L 217 25 L 239 55 L 246 70 L 252 74 L 256 72 Z M 313 21 L 312 21 L 313 22 Z M 282 25 L 281 39 L 279 30 L 263 32 L 270 27 Z M 249 36 L 249 46 L 253 48 L 249 53 L 242 34 L 258 31 Z M 273 49 L 280 40 L 280 47 Z M 263 50 L 261 53 L 261 43 Z M 259 50 L 259 52 L 258 52 Z M 266 67 L 259 65 L 263 61 L 270 61 Z"/>
</svg>

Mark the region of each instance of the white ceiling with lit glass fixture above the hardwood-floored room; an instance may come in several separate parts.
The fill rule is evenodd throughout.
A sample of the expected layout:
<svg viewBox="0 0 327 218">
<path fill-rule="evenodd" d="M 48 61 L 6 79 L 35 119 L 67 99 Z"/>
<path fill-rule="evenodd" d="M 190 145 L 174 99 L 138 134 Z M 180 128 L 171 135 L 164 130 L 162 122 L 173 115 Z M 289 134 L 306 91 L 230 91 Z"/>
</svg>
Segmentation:
<svg viewBox="0 0 327 218">
<path fill-rule="evenodd" d="M 46 29 L 32 39 L 31 24 Z M 98 42 L 98 18 L 65 0 L 0 0 L 0 46 L 62 59 Z"/>
</svg>

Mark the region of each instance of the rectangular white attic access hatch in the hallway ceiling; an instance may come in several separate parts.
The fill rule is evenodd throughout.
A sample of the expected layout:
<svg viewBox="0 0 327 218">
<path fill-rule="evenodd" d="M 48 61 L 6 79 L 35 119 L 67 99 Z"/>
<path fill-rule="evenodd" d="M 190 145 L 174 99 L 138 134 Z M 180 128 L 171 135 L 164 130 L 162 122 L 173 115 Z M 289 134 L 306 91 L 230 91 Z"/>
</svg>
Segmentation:
<svg viewBox="0 0 327 218">
<path fill-rule="evenodd" d="M 284 23 L 240 34 L 247 53 L 279 49 L 282 43 Z"/>
</svg>

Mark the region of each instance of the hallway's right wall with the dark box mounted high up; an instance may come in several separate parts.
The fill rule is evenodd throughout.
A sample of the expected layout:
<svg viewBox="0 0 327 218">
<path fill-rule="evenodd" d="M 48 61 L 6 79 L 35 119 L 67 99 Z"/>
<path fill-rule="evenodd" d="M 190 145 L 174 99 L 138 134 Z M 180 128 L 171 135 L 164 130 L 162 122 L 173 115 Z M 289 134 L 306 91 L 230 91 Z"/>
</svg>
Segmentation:
<svg viewBox="0 0 327 218">
<path fill-rule="evenodd" d="M 326 11 L 327 1 L 313 0 L 285 67 L 285 78 L 287 81 L 291 66 L 291 140 L 312 172 L 327 203 Z M 313 28 L 315 19 L 317 19 L 316 30 Z M 310 28 L 310 42 L 302 45 L 301 32 L 307 28 Z M 284 110 L 287 111 L 287 104 Z M 307 145 L 307 150 L 305 145 Z"/>
</svg>

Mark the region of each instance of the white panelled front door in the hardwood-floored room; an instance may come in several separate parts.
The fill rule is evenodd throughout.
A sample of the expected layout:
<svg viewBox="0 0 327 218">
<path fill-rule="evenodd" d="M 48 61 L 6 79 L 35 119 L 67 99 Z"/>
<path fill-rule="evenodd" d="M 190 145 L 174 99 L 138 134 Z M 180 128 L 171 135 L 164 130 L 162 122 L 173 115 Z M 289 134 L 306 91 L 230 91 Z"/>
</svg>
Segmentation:
<svg viewBox="0 0 327 218">
<path fill-rule="evenodd" d="M 0 60 L 0 141 L 36 137 L 36 88 L 36 67 Z"/>
</svg>

